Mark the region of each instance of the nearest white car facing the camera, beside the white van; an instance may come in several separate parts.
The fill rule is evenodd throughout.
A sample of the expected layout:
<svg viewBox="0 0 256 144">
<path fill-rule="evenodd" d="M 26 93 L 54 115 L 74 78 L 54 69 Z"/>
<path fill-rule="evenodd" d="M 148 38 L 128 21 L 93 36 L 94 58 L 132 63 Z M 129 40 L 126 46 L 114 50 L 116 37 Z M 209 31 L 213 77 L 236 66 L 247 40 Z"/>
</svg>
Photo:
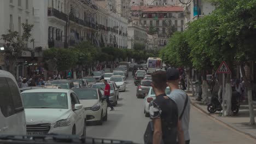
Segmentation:
<svg viewBox="0 0 256 144">
<path fill-rule="evenodd" d="M 32 89 L 21 93 L 27 135 L 66 134 L 85 136 L 86 114 L 70 89 Z"/>
</svg>

